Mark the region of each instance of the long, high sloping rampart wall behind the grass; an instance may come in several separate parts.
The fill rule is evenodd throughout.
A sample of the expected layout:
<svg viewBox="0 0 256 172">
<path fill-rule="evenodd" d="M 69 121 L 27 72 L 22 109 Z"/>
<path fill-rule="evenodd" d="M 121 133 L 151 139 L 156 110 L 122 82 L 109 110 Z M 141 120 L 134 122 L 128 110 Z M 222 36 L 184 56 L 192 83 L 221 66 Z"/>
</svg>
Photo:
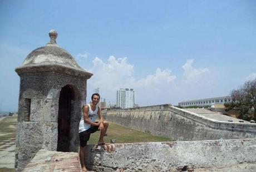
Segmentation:
<svg viewBox="0 0 256 172">
<path fill-rule="evenodd" d="M 256 124 L 222 122 L 169 104 L 110 110 L 105 113 L 105 118 L 174 140 L 256 138 Z"/>
</svg>

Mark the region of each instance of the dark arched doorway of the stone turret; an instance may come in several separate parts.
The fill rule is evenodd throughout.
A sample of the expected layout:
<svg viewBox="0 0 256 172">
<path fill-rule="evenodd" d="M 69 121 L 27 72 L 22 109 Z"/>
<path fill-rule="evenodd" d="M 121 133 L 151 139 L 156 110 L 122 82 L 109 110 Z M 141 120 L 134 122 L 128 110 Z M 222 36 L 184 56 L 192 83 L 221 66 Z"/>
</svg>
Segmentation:
<svg viewBox="0 0 256 172">
<path fill-rule="evenodd" d="M 75 85 L 66 85 L 58 100 L 57 151 L 77 151 L 78 123 L 81 116 L 81 94 Z"/>
</svg>

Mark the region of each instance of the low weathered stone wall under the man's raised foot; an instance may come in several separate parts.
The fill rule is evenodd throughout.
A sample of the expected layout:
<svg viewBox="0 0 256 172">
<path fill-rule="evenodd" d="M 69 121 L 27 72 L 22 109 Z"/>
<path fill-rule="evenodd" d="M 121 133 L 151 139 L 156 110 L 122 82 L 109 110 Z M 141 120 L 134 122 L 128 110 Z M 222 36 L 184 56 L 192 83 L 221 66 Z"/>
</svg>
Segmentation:
<svg viewBox="0 0 256 172">
<path fill-rule="evenodd" d="M 256 139 L 114 144 L 86 147 L 86 165 L 95 171 L 178 171 L 255 163 Z M 256 165 L 253 164 L 254 169 Z M 243 171 L 243 170 L 240 170 Z M 253 171 L 253 170 L 252 170 Z"/>
</svg>

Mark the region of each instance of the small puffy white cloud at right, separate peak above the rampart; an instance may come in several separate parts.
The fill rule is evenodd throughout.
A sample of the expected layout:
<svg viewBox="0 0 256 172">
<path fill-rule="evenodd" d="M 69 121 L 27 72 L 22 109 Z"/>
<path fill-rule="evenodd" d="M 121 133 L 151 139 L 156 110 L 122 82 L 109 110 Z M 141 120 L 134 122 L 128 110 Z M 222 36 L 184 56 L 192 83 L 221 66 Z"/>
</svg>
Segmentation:
<svg viewBox="0 0 256 172">
<path fill-rule="evenodd" d="M 208 68 L 196 69 L 193 67 L 194 59 L 186 60 L 186 63 L 182 66 L 184 69 L 183 77 L 185 82 L 196 82 L 199 80 L 205 73 L 209 72 Z"/>
</svg>

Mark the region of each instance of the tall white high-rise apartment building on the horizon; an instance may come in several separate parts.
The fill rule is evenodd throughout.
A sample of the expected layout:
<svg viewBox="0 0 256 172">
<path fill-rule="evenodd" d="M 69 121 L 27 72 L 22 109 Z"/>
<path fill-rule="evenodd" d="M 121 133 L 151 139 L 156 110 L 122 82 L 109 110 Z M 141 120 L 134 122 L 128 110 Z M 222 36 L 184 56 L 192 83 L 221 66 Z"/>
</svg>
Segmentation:
<svg viewBox="0 0 256 172">
<path fill-rule="evenodd" d="M 120 88 L 116 91 L 116 107 L 132 108 L 135 104 L 134 89 Z"/>
</svg>

